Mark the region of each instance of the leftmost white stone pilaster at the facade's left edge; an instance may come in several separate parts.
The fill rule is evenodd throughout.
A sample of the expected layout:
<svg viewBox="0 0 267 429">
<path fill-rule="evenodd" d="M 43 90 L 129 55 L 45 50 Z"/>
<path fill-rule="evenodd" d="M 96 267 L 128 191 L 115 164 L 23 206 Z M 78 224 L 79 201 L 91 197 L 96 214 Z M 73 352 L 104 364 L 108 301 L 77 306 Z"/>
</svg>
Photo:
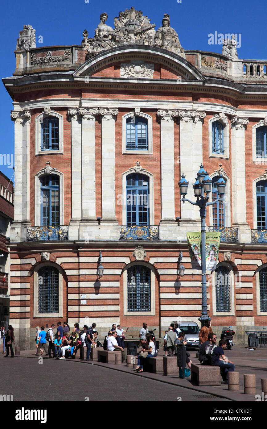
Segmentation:
<svg viewBox="0 0 267 429">
<path fill-rule="evenodd" d="M 26 241 L 30 227 L 30 118 L 29 111 L 11 111 L 15 125 L 15 197 L 12 241 Z"/>
</svg>

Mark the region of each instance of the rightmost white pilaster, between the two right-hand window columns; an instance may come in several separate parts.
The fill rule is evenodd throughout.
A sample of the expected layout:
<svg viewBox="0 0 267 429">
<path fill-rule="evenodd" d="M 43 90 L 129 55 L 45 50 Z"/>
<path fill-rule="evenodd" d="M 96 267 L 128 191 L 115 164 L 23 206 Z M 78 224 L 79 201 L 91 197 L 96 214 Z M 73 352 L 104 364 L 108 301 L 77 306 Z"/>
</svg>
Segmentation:
<svg viewBox="0 0 267 429">
<path fill-rule="evenodd" d="M 248 118 L 231 119 L 232 153 L 232 226 L 238 228 L 238 240 L 251 242 L 251 231 L 246 221 L 246 154 L 245 128 Z"/>
</svg>

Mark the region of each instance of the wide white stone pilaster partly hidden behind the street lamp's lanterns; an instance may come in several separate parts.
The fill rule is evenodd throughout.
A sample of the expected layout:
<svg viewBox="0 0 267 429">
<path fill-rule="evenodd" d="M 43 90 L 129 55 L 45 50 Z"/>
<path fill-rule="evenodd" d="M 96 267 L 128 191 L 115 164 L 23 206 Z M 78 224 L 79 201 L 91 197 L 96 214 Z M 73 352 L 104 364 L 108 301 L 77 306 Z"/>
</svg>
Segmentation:
<svg viewBox="0 0 267 429">
<path fill-rule="evenodd" d="M 184 173 L 189 182 L 186 198 L 195 202 L 192 185 L 195 183 L 197 172 L 203 160 L 202 124 L 205 112 L 178 111 L 180 119 L 180 172 Z M 201 218 L 199 207 L 189 202 L 181 203 L 180 228 L 186 231 L 199 230 Z M 185 237 L 183 237 L 185 238 Z"/>
</svg>

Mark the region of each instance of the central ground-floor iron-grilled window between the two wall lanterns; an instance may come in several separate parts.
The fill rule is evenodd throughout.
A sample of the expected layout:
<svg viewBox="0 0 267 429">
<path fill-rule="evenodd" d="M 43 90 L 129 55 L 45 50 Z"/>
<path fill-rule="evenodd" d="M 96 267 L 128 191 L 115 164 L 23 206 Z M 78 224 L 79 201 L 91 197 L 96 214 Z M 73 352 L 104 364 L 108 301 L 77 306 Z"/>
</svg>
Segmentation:
<svg viewBox="0 0 267 429">
<path fill-rule="evenodd" d="M 127 270 L 128 311 L 151 311 L 150 269 L 134 265 Z"/>
</svg>

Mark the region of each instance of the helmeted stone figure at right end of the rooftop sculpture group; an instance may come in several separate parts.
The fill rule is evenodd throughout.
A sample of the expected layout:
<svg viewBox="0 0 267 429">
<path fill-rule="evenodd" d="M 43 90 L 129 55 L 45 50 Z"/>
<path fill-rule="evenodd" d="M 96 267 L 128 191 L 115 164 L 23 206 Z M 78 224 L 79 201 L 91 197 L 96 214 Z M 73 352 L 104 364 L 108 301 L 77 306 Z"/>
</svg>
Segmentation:
<svg viewBox="0 0 267 429">
<path fill-rule="evenodd" d="M 182 48 L 178 39 L 178 34 L 174 28 L 170 27 L 170 15 L 164 14 L 162 19 L 162 26 L 156 31 L 154 38 L 154 45 L 158 45 L 161 48 L 165 48 L 168 51 L 174 52 L 175 54 L 183 54 L 184 49 Z"/>
</svg>

